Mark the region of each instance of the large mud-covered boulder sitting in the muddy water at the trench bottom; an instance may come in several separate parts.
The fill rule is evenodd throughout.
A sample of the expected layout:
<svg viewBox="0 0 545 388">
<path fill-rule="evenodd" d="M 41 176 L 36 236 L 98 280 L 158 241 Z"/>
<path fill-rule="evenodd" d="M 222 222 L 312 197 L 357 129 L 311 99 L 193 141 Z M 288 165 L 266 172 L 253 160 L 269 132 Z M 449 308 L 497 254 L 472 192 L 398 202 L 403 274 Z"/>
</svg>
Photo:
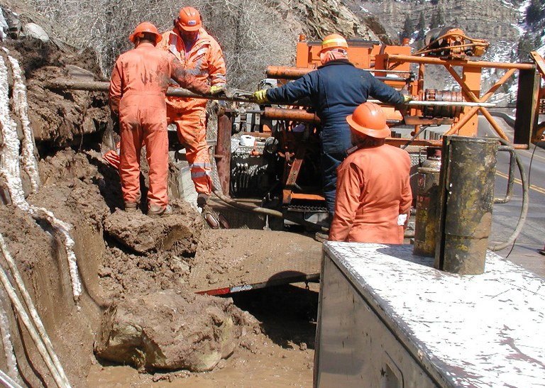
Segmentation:
<svg viewBox="0 0 545 388">
<path fill-rule="evenodd" d="M 172 290 L 119 301 L 104 312 L 97 357 L 140 370 L 214 369 L 243 332 L 231 299 Z"/>
</svg>

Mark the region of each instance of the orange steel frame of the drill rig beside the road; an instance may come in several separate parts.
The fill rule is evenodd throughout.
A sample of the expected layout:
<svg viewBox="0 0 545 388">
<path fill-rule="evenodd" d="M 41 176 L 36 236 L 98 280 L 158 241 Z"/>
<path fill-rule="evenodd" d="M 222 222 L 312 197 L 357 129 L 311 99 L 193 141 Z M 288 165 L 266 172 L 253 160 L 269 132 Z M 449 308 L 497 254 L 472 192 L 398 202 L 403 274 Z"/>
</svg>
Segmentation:
<svg viewBox="0 0 545 388">
<path fill-rule="evenodd" d="M 404 118 L 406 124 L 414 126 L 414 133 L 419 133 L 419 128 L 422 125 L 444 124 L 450 123 L 451 128 L 446 132 L 447 135 L 457 134 L 464 136 L 477 135 L 478 114 L 481 113 L 488 120 L 492 128 L 496 131 L 500 138 L 510 141 L 515 148 L 528 148 L 529 143 L 538 141 L 538 126 L 537 113 L 539 112 L 539 97 L 545 92 L 539 89 L 539 76 L 536 72 L 536 65 L 532 63 L 503 63 L 503 62 L 487 62 L 475 61 L 459 58 L 445 57 L 424 57 L 419 55 L 411 55 L 411 47 L 405 41 L 404 45 L 387 46 L 380 45 L 378 42 L 363 42 L 356 40 L 347 40 L 348 43 L 348 59 L 356 65 L 366 70 L 374 72 L 375 77 L 379 77 L 386 84 L 396 89 L 403 89 L 407 94 L 415 96 L 416 99 L 424 100 L 426 98 L 424 91 L 424 73 L 426 65 L 444 66 L 451 74 L 453 79 L 458 82 L 461 88 L 463 100 L 470 103 L 481 104 L 490 99 L 490 96 L 502 87 L 513 74 L 519 71 L 519 93 L 517 97 L 517 117 L 515 119 L 514 138 L 511 140 L 506 133 L 496 123 L 488 109 L 484 106 L 464 106 L 459 109 L 459 114 L 453 118 L 435 118 L 424 116 L 422 106 L 410 106 L 404 117 L 395 111 L 392 106 L 383 106 L 387 111 L 387 115 L 391 117 Z M 304 35 L 299 36 L 297 43 L 297 56 L 295 60 L 296 67 L 269 67 L 268 76 L 285 81 L 282 76 L 289 75 L 290 79 L 301 77 L 303 74 L 314 70 L 320 65 L 319 52 L 321 43 L 307 42 Z M 539 55 L 538 55 L 539 57 Z M 541 57 L 539 57 L 541 58 Z M 537 62 L 539 58 L 534 57 Z M 410 77 L 411 65 L 418 65 L 417 77 Z M 538 62 L 539 64 L 539 62 Z M 545 62 L 541 58 L 541 64 L 545 70 Z M 505 70 L 505 73 L 500 79 L 495 82 L 488 91 L 481 93 L 481 76 L 483 68 L 495 68 Z M 384 70 L 380 72 L 379 70 Z M 397 74 L 397 77 L 395 76 Z M 400 77 L 399 74 L 407 74 L 408 77 Z M 390 76 L 390 77 L 387 77 Z M 394 77 L 392 77 L 392 75 Z M 545 78 L 545 73 L 544 73 Z M 282 116 L 282 109 L 277 109 L 277 118 Z M 285 113 L 289 113 L 289 109 L 285 109 Z M 314 113 L 311 113 L 314 114 Z M 289 117 L 286 116 L 286 118 Z M 310 121 L 310 120 L 307 120 Z M 392 145 L 405 145 L 407 139 L 388 138 L 387 143 Z M 441 140 L 426 140 L 420 139 L 418 135 L 412 139 L 413 145 L 441 145 Z M 293 153 L 292 160 L 287 160 L 290 165 L 289 172 L 285 176 L 285 188 L 283 190 L 282 202 L 289 205 L 292 199 L 323 199 L 315 194 L 294 193 L 297 187 L 296 179 L 299 174 L 299 169 L 302 163 L 304 154 L 304 145 L 298 147 Z M 319 197 L 319 198 L 318 198 Z"/>
</svg>

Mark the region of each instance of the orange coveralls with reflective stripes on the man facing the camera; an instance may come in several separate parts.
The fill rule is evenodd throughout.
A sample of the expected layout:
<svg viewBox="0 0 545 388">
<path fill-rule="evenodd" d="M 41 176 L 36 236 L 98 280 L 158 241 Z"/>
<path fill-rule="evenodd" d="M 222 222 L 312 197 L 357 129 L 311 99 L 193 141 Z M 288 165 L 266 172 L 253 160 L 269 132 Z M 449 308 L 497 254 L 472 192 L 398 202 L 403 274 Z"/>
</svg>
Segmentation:
<svg viewBox="0 0 545 388">
<path fill-rule="evenodd" d="M 163 33 L 158 48 L 172 53 L 185 70 L 203 82 L 225 86 L 223 52 L 204 28 L 199 29 L 197 41 L 189 52 L 186 52 L 184 40 L 176 29 Z M 210 194 L 212 169 L 207 145 L 207 100 L 168 97 L 167 120 L 176 124 L 178 140 L 185 145 L 195 190 Z"/>
</svg>

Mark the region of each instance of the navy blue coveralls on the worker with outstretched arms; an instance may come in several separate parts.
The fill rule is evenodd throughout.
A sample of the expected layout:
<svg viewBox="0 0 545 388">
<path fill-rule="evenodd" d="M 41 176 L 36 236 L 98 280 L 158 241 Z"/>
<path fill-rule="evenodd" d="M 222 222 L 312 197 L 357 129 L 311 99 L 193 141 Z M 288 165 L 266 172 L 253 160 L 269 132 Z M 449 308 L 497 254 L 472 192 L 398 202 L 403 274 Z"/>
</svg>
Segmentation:
<svg viewBox="0 0 545 388">
<path fill-rule="evenodd" d="M 356 68 L 348 60 L 331 60 L 316 71 L 282 87 L 268 89 L 272 103 L 287 103 L 308 97 L 321 121 L 321 170 L 327 210 L 335 207 L 337 167 L 352 147 L 346 116 L 373 96 L 382 102 L 402 104 L 403 95 L 370 72 Z"/>
</svg>

